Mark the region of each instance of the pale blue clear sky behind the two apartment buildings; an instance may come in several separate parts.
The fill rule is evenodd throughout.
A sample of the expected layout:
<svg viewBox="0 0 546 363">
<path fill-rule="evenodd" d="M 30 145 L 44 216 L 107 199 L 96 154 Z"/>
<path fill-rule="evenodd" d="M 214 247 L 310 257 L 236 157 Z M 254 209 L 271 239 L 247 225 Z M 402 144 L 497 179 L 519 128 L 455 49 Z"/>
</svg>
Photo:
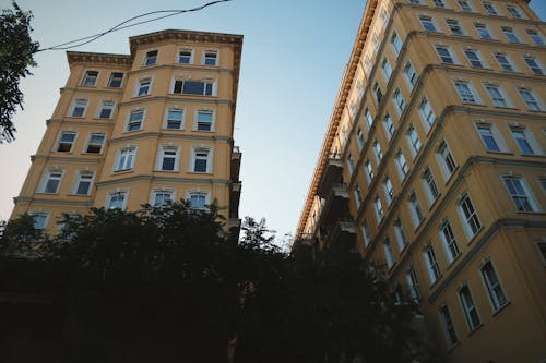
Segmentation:
<svg viewBox="0 0 546 363">
<path fill-rule="evenodd" d="M 17 0 L 34 14 L 32 37 L 50 47 L 108 29 L 157 10 L 190 9 L 210 0 Z M 11 1 L 0 0 L 0 8 Z M 266 218 L 282 238 L 296 230 L 335 96 L 366 0 L 233 0 L 199 12 L 108 34 L 75 51 L 129 53 L 129 37 L 175 28 L 242 34 L 235 144 L 242 152 L 239 215 Z M 546 19 L 546 0 L 531 8 Z M 21 83 L 24 110 L 16 140 L 0 144 L 0 220 L 8 219 L 64 86 L 64 51 L 35 57 Z"/>
</svg>

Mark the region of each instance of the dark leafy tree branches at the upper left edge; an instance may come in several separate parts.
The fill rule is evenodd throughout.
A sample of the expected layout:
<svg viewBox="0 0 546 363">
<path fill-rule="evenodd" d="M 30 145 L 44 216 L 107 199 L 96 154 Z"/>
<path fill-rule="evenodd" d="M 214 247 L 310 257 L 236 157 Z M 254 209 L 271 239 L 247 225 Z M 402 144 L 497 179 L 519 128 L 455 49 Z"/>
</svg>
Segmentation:
<svg viewBox="0 0 546 363">
<path fill-rule="evenodd" d="M 21 78 L 31 75 L 29 66 L 36 66 L 34 53 L 39 44 L 31 39 L 31 12 L 25 12 L 12 1 L 12 9 L 3 9 L 0 15 L 0 143 L 15 138 L 12 118 L 16 107 L 23 108 Z"/>
</svg>

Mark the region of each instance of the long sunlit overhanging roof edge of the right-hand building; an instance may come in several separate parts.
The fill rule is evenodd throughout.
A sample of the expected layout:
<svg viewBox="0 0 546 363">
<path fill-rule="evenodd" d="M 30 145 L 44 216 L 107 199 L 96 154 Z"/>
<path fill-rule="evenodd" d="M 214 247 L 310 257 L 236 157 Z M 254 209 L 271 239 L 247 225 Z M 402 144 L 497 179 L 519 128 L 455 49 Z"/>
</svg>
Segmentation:
<svg viewBox="0 0 546 363">
<path fill-rule="evenodd" d="M 322 148 L 319 154 L 319 160 L 317 161 L 317 166 L 314 167 L 314 173 L 311 183 L 309 185 L 309 191 L 304 205 L 304 209 L 301 210 L 301 216 L 299 217 L 299 222 L 296 230 L 296 239 L 304 233 L 305 225 L 309 218 L 309 213 L 311 210 L 312 202 L 314 196 L 317 195 L 319 181 L 324 171 L 324 166 L 327 164 L 328 155 L 330 154 L 333 140 L 337 133 L 337 128 L 340 125 L 340 120 L 343 113 L 343 109 L 345 108 L 345 105 L 347 102 L 348 93 L 351 90 L 351 86 L 355 77 L 356 69 L 360 60 L 360 55 L 363 52 L 364 45 L 368 37 L 368 31 L 370 28 L 371 21 L 373 20 L 378 1 L 379 0 L 368 0 L 368 2 L 366 3 L 363 21 L 360 22 L 360 26 L 358 27 L 358 33 L 356 36 L 355 44 L 353 46 L 353 51 L 351 52 L 349 62 L 346 65 L 345 72 L 343 74 L 340 90 L 337 92 L 337 96 L 335 98 L 334 109 L 332 110 L 332 114 L 330 117 L 330 124 L 328 126 L 324 141 L 322 142 Z"/>
</svg>

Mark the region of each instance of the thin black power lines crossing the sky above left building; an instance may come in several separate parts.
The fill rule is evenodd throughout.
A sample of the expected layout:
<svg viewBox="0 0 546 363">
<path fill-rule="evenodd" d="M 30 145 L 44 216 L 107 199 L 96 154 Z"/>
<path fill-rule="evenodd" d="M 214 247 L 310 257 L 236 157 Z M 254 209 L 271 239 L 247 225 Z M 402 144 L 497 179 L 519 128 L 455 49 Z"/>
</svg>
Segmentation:
<svg viewBox="0 0 546 363">
<path fill-rule="evenodd" d="M 216 1 L 211 1 L 211 2 L 207 2 L 207 3 L 203 4 L 203 5 L 200 5 L 200 7 L 197 7 L 197 8 L 192 8 L 192 9 L 185 9 L 185 10 L 157 10 L 157 11 L 151 11 L 151 12 L 147 12 L 147 13 L 140 14 L 140 15 L 133 16 L 131 19 L 128 19 L 128 20 L 126 20 L 126 21 L 117 24 L 116 26 L 114 26 L 114 27 L 111 27 L 108 31 L 105 31 L 103 33 L 98 33 L 98 34 L 90 35 L 90 36 L 86 36 L 86 37 L 83 37 L 83 38 L 79 38 L 79 39 L 75 39 L 75 40 L 62 43 L 60 45 L 52 46 L 52 47 L 49 47 L 49 48 L 38 49 L 37 51 L 45 51 L 45 50 L 67 50 L 67 49 L 72 49 L 72 48 L 81 47 L 83 45 L 86 45 L 86 44 L 90 44 L 92 41 L 95 41 L 98 38 L 102 38 L 102 37 L 104 37 L 105 35 L 107 35 L 109 33 L 119 32 L 119 31 L 126 29 L 128 27 L 132 27 L 132 26 L 141 25 L 141 24 L 145 24 L 145 23 L 155 22 L 155 21 L 161 20 L 161 19 L 165 19 L 165 17 L 169 17 L 169 16 L 175 16 L 175 15 L 179 15 L 179 14 L 182 14 L 182 13 L 188 13 L 188 12 L 192 12 L 192 11 L 200 11 L 200 10 L 203 10 L 203 9 L 205 9 L 207 7 L 212 7 L 212 5 L 216 4 L 216 3 L 227 2 L 227 1 L 232 1 L 232 0 L 216 0 Z M 154 14 L 164 14 L 164 13 L 167 13 L 167 14 L 166 15 L 162 15 L 162 16 L 156 16 L 156 17 L 153 17 L 153 19 L 149 19 L 149 20 L 145 20 L 145 21 L 141 21 L 141 22 L 138 22 L 138 23 L 134 23 L 134 24 L 126 25 L 126 24 L 128 24 L 128 23 L 130 23 L 132 21 L 135 21 L 135 20 L 144 17 L 144 16 L 150 16 L 150 15 L 154 15 Z M 75 45 L 73 45 L 74 43 L 75 43 Z M 72 46 L 70 46 L 70 45 L 72 45 Z"/>
</svg>

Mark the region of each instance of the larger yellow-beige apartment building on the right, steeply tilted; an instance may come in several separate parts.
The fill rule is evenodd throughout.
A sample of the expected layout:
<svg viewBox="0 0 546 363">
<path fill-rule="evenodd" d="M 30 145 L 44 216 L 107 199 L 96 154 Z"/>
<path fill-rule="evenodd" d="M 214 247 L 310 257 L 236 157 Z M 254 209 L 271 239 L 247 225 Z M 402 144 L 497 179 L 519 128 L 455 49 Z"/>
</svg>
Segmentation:
<svg viewBox="0 0 546 363">
<path fill-rule="evenodd" d="M 442 362 L 546 362 L 545 34 L 525 0 L 368 0 L 335 99 L 296 241 L 383 265 Z"/>
</svg>

